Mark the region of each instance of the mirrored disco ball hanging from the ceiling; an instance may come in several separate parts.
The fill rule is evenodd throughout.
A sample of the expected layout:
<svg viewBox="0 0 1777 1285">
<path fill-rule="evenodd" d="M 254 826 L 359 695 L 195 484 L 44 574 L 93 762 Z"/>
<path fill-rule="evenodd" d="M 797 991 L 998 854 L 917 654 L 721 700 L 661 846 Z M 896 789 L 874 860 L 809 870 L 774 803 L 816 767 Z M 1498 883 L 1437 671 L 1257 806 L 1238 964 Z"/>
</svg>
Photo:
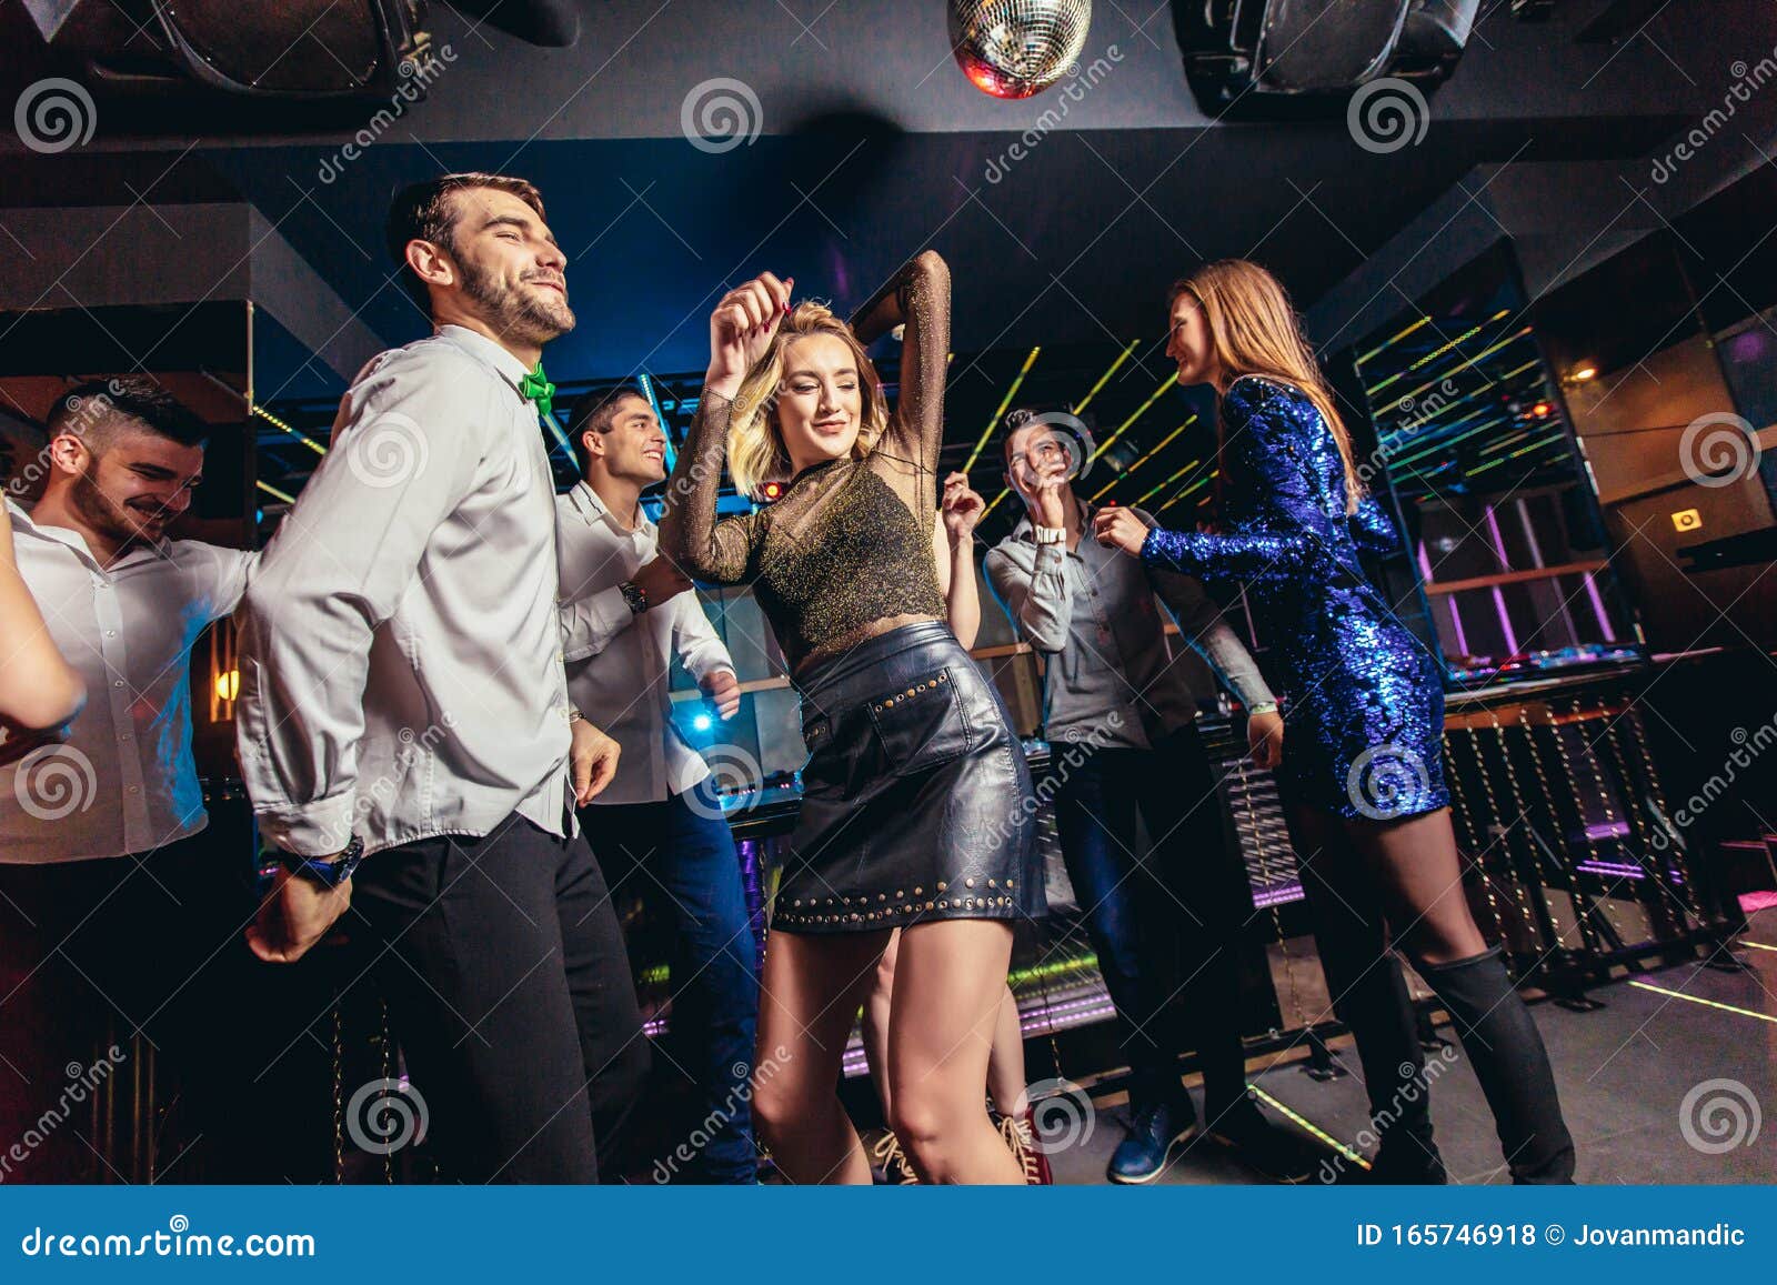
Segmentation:
<svg viewBox="0 0 1777 1285">
<path fill-rule="evenodd" d="M 1079 66 L 1091 0 L 951 0 L 951 52 L 976 89 L 1040 94 Z"/>
</svg>

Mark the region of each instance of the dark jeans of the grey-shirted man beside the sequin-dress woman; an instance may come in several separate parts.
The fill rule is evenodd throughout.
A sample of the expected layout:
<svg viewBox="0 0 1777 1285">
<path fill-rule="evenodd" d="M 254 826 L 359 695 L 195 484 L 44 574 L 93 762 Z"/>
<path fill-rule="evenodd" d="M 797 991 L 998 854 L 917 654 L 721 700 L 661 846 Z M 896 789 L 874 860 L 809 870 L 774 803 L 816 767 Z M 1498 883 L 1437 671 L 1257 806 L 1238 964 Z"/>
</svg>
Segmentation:
<svg viewBox="0 0 1777 1285">
<path fill-rule="evenodd" d="M 1214 1121 L 1246 1088 L 1239 937 L 1253 892 L 1198 729 L 1151 750 L 1056 741 L 1054 752 L 1048 775 L 1066 775 L 1056 794 L 1061 855 L 1116 1004 L 1130 1109 L 1178 1102 L 1178 1054 L 1194 1049 Z M 1070 754 L 1084 762 L 1070 768 Z M 1151 841 L 1141 860 L 1137 809 Z"/>
</svg>

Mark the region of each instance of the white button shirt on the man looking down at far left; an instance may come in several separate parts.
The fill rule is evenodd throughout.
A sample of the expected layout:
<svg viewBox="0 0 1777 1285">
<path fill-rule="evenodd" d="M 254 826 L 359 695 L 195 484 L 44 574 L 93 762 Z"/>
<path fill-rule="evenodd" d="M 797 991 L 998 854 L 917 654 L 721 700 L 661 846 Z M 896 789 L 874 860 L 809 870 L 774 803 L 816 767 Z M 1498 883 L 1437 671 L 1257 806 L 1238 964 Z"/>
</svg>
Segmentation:
<svg viewBox="0 0 1777 1285">
<path fill-rule="evenodd" d="M 101 567 L 76 531 L 5 505 L 20 574 L 87 707 L 66 743 L 0 768 L 0 862 L 149 853 L 197 834 L 210 818 L 192 761 L 192 643 L 235 610 L 259 555 L 160 540 Z"/>
</svg>

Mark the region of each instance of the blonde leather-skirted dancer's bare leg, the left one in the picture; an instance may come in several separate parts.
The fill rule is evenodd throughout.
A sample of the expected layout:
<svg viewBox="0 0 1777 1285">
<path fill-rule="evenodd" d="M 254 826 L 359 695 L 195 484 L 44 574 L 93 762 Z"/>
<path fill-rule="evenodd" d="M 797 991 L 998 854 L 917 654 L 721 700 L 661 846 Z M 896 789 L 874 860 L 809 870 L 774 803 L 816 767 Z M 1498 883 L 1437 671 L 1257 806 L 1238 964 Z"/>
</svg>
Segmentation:
<svg viewBox="0 0 1777 1285">
<path fill-rule="evenodd" d="M 851 1018 L 887 942 L 888 933 L 771 933 L 759 985 L 753 1127 L 791 1182 L 871 1180 L 839 1102 L 839 1075 Z"/>
</svg>

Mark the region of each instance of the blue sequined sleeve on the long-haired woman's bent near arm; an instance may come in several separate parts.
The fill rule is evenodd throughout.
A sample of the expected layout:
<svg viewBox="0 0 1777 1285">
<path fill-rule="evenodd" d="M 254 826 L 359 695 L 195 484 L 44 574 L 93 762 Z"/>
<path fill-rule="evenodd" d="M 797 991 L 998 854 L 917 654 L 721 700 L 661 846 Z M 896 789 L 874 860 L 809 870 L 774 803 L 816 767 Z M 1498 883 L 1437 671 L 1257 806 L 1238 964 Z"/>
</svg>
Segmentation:
<svg viewBox="0 0 1777 1285">
<path fill-rule="evenodd" d="M 1329 547 L 1320 494 L 1303 467 L 1308 455 L 1303 418 L 1313 403 L 1258 380 L 1237 382 L 1223 402 L 1230 457 L 1262 498 L 1230 533 L 1148 531 L 1141 560 L 1212 583 L 1301 583 Z"/>
</svg>

